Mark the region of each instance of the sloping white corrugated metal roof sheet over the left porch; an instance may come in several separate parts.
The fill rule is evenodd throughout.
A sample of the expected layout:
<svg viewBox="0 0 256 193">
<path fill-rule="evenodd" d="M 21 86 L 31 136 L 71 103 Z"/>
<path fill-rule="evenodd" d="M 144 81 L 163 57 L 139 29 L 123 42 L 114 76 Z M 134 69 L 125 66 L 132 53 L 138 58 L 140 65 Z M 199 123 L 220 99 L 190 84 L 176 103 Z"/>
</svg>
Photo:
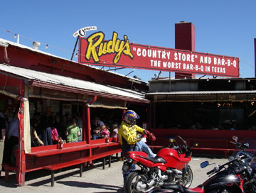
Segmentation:
<svg viewBox="0 0 256 193">
<path fill-rule="evenodd" d="M 14 67 L 10 65 L 0 64 L 0 74 L 10 73 L 18 77 L 23 77 L 28 80 L 36 80 L 38 82 L 46 82 L 48 84 L 62 85 L 76 89 L 83 89 L 85 91 L 110 94 L 114 96 L 123 96 L 140 101 L 149 101 L 145 99 L 144 93 L 123 89 L 119 87 L 112 87 L 109 85 L 96 84 L 95 82 L 88 82 L 85 80 L 74 79 L 72 77 L 63 77 L 60 75 L 52 75 L 45 72 L 38 72 L 35 70 L 28 70 L 21 67 Z"/>
</svg>

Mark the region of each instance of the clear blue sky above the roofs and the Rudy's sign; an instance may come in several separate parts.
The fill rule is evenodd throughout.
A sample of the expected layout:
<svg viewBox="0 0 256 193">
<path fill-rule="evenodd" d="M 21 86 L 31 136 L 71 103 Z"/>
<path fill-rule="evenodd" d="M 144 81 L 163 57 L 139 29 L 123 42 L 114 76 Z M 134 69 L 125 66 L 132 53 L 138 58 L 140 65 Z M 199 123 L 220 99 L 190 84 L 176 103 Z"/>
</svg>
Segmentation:
<svg viewBox="0 0 256 193">
<path fill-rule="evenodd" d="M 67 59 L 75 45 L 73 33 L 85 26 L 97 26 L 106 39 L 116 31 L 120 38 L 127 35 L 130 42 L 175 48 L 175 23 L 191 22 L 196 28 L 197 52 L 239 57 L 240 77 L 255 77 L 255 0 L 9 0 L 1 1 L 0 7 L 0 38 L 16 42 L 14 34 L 18 33 L 21 44 L 32 46 L 36 40 L 40 50 Z M 122 75 L 131 71 L 117 70 Z M 134 70 L 129 76 L 147 82 L 157 73 Z M 169 72 L 162 72 L 161 77 L 169 77 Z"/>
</svg>

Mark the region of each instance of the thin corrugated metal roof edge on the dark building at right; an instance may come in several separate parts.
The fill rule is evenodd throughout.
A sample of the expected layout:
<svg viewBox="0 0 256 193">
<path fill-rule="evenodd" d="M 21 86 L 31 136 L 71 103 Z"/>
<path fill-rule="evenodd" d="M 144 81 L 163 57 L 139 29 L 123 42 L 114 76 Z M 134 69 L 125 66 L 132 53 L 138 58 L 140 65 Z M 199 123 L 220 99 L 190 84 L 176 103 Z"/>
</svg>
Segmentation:
<svg viewBox="0 0 256 193">
<path fill-rule="evenodd" d="M 236 91 L 188 91 L 188 92 L 150 92 L 148 95 L 196 95 L 196 94 L 256 94 L 256 90 Z"/>
</svg>

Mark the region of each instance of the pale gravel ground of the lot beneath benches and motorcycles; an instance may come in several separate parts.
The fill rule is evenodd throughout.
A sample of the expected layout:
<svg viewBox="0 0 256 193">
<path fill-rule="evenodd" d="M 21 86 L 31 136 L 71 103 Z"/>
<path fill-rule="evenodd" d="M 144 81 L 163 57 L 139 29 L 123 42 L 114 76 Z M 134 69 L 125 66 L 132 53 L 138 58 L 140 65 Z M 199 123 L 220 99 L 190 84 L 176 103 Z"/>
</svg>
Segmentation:
<svg viewBox="0 0 256 193">
<path fill-rule="evenodd" d="M 200 163 L 208 160 L 210 163 L 222 164 L 227 162 L 227 159 L 221 158 L 199 158 L 193 157 L 189 165 L 193 171 L 193 183 L 191 187 L 196 187 L 201 184 L 208 176 L 206 172 L 213 169 L 214 165 L 209 165 L 206 168 L 201 168 Z M 26 193 L 46 193 L 61 192 L 61 193 L 75 193 L 75 192 L 122 192 L 122 162 L 116 161 L 112 158 L 112 165 L 106 165 L 105 170 L 102 170 L 102 162 L 95 163 L 94 168 L 86 168 L 79 176 L 79 169 L 69 167 L 55 174 L 55 186 L 50 186 L 50 172 L 46 170 L 38 170 L 35 172 L 26 173 L 26 182 L 24 187 L 17 187 L 15 185 L 15 174 L 9 175 L 9 183 L 4 181 L 4 172 L 1 172 L 0 178 L 0 192 L 26 192 Z M 137 167 L 138 168 L 138 167 Z"/>
</svg>

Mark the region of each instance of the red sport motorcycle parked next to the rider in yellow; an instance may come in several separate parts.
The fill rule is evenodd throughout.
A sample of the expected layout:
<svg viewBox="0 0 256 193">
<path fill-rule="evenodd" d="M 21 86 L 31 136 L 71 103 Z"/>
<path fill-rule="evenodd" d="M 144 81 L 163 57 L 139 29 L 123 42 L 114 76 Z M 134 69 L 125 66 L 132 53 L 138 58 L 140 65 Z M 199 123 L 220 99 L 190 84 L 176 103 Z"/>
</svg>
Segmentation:
<svg viewBox="0 0 256 193">
<path fill-rule="evenodd" d="M 193 180 L 193 172 L 188 165 L 191 155 L 191 147 L 180 136 L 169 139 L 169 145 L 159 150 L 155 158 L 140 151 L 125 153 L 122 170 L 129 170 L 133 163 L 141 168 L 129 173 L 124 186 L 126 192 L 149 192 L 166 182 L 189 187 Z"/>
</svg>

